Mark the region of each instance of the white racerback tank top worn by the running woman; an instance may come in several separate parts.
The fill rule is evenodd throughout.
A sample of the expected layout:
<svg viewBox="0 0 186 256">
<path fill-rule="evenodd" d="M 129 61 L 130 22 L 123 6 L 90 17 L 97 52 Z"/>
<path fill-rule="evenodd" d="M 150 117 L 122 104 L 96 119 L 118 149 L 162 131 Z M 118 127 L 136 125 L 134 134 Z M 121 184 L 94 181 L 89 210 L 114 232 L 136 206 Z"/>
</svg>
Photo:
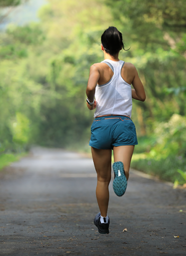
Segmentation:
<svg viewBox="0 0 186 256">
<path fill-rule="evenodd" d="M 131 85 L 122 78 L 121 68 L 124 61 L 104 59 L 113 71 L 111 79 L 102 85 L 95 87 L 95 100 L 97 102 L 94 117 L 106 114 L 127 115 L 131 117 L 132 96 Z"/>
</svg>

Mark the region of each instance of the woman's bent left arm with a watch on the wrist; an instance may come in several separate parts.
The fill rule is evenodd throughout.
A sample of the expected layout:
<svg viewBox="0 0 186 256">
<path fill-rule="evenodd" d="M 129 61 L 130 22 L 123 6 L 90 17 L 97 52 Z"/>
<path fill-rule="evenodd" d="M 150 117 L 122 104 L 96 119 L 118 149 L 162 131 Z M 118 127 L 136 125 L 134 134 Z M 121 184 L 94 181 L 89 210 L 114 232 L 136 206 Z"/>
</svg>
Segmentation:
<svg viewBox="0 0 186 256">
<path fill-rule="evenodd" d="M 98 81 L 99 77 L 100 77 L 100 73 L 99 73 L 98 67 L 95 64 L 91 65 L 88 83 L 87 83 L 87 87 L 86 87 L 86 95 L 90 102 L 93 102 L 93 100 L 94 100 L 95 87 L 97 85 L 97 81 Z M 86 105 L 90 110 L 92 110 L 96 107 L 96 101 L 94 100 L 94 104 L 92 104 L 92 105 L 89 105 L 86 102 Z"/>
</svg>

